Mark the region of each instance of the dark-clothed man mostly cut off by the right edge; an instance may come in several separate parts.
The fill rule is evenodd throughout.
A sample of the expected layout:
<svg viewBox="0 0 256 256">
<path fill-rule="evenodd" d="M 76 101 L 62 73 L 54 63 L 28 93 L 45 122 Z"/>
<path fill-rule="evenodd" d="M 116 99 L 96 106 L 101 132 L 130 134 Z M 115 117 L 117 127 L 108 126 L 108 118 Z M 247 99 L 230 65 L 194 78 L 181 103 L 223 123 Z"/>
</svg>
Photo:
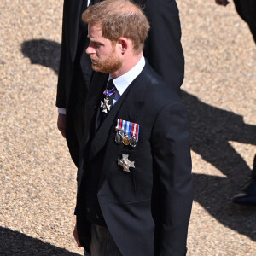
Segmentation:
<svg viewBox="0 0 256 256">
<path fill-rule="evenodd" d="M 217 4 L 226 6 L 228 0 L 215 0 Z M 241 19 L 247 22 L 256 43 L 256 1 L 255 0 L 234 0 L 236 11 Z M 251 180 L 235 195 L 232 201 L 236 204 L 256 207 L 256 154 L 253 160 L 253 171 Z"/>
</svg>

